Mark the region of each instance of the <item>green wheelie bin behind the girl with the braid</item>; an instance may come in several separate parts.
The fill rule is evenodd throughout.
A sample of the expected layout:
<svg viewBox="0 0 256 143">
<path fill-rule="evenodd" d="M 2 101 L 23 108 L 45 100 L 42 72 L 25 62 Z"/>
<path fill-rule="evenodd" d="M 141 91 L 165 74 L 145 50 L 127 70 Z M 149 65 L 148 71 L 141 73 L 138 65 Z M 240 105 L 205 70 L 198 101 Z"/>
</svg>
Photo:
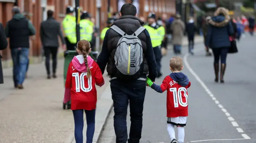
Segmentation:
<svg viewBox="0 0 256 143">
<path fill-rule="evenodd" d="M 78 55 L 77 51 L 65 51 L 64 52 L 64 86 L 66 83 L 66 77 L 68 72 L 68 65 L 72 61 L 73 57 Z M 70 109 L 71 108 L 71 102 L 69 101 L 67 104 L 63 103 L 63 109 Z"/>
</svg>

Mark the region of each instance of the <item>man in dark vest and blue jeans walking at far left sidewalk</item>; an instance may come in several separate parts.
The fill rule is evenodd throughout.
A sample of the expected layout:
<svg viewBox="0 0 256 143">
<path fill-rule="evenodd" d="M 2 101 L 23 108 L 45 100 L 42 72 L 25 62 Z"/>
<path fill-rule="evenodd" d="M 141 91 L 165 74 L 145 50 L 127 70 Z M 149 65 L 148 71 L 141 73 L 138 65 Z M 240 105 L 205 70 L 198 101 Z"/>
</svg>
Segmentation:
<svg viewBox="0 0 256 143">
<path fill-rule="evenodd" d="M 12 8 L 12 19 L 5 27 L 6 37 L 10 38 L 10 49 L 13 62 L 14 87 L 23 89 L 26 76 L 29 52 L 29 36 L 36 34 L 32 23 L 20 13 L 20 8 Z"/>
</svg>

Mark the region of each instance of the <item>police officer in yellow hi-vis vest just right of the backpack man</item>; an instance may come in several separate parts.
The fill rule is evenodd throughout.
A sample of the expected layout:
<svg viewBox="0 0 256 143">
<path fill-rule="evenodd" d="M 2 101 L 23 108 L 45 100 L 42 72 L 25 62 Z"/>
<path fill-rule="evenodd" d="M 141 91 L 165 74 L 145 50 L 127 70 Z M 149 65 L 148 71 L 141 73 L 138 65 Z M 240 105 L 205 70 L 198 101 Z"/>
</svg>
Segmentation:
<svg viewBox="0 0 256 143">
<path fill-rule="evenodd" d="M 162 76 L 162 73 L 160 72 L 161 59 L 162 59 L 162 54 L 160 49 L 161 49 L 161 44 L 165 34 L 164 27 L 156 23 L 156 14 L 154 13 L 150 13 L 148 15 L 148 23 L 144 25 L 144 27 L 148 30 L 151 37 L 152 47 L 156 57 L 158 77 L 160 77 Z"/>
</svg>

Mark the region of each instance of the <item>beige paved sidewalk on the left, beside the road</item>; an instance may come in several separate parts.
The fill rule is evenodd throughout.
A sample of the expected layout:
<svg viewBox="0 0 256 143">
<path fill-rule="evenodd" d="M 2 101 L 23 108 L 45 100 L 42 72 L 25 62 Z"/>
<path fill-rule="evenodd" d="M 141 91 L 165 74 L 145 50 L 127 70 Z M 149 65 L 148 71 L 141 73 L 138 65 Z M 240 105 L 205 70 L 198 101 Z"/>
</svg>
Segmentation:
<svg viewBox="0 0 256 143">
<path fill-rule="evenodd" d="M 4 84 L 0 84 L 0 143 L 66 143 L 68 138 L 73 139 L 72 112 L 62 109 L 63 63 L 58 61 L 58 78 L 50 80 L 46 79 L 44 63 L 31 64 L 24 90 L 14 89 L 12 69 L 4 69 Z M 101 130 L 104 114 L 107 117 L 107 108 L 112 106 L 106 88 L 109 78 L 104 78 L 105 85 L 97 87 L 98 106 L 102 104 L 105 108 L 97 109 L 102 116 L 97 119 L 96 115 L 96 131 Z"/>
</svg>

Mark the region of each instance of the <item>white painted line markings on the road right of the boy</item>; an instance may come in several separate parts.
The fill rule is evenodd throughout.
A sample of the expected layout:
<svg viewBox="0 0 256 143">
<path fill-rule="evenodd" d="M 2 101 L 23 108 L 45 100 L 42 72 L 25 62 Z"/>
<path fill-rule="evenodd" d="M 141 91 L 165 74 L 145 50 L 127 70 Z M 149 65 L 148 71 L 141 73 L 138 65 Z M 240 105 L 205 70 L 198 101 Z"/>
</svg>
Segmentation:
<svg viewBox="0 0 256 143">
<path fill-rule="evenodd" d="M 201 49 L 199 50 L 201 51 Z M 196 51 L 195 51 L 196 52 Z M 189 63 L 188 63 L 188 55 L 189 53 L 186 53 L 183 57 L 184 59 L 184 64 L 186 66 L 186 68 L 188 69 L 188 71 L 190 71 L 190 73 L 196 78 L 196 80 L 201 84 L 201 86 L 204 88 L 204 90 L 207 92 L 207 94 L 212 97 L 212 100 L 218 105 L 218 107 L 226 114 L 226 116 L 228 117 L 228 120 L 231 121 L 232 125 L 234 127 L 239 127 L 238 123 L 236 121 L 234 121 L 234 118 L 232 118 L 230 116 L 230 114 L 228 113 L 228 111 L 226 109 L 224 109 L 224 107 L 220 104 L 220 102 L 216 99 L 216 97 L 214 97 L 214 95 L 212 94 L 212 92 L 209 90 L 209 88 L 204 84 L 204 82 L 200 79 L 200 77 L 196 74 L 196 72 L 193 71 L 193 69 L 190 67 Z M 217 101 L 217 102 L 216 102 Z M 237 128 L 236 128 L 237 129 Z M 237 131 L 239 133 L 241 133 L 240 131 L 243 131 L 242 128 L 237 129 Z M 243 131 L 244 132 L 244 131 Z M 242 137 L 244 137 L 244 139 L 251 139 L 248 135 L 246 134 L 242 134 Z M 240 140 L 240 139 L 220 139 L 220 140 Z M 217 141 L 215 139 L 213 140 L 201 140 L 201 141 Z M 199 142 L 199 141 L 191 141 L 191 142 Z"/>
</svg>

